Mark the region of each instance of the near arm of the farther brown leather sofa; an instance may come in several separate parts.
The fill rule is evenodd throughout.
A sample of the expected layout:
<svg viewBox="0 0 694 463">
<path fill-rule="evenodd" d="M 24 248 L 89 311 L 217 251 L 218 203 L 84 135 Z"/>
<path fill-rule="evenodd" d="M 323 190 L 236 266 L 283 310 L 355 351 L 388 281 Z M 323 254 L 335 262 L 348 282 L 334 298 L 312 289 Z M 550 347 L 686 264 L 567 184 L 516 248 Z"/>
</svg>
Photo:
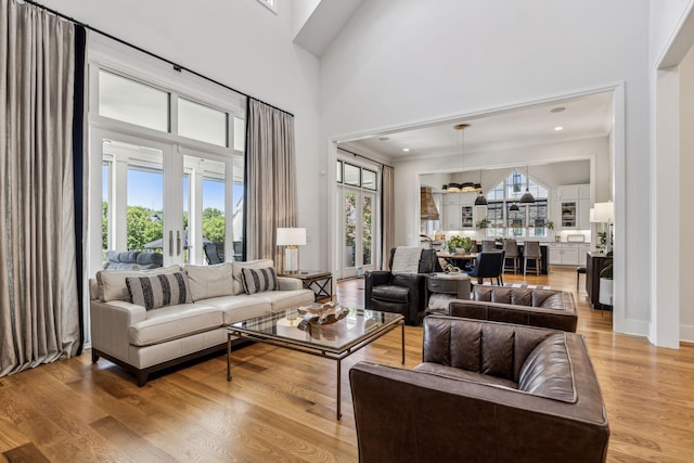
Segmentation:
<svg viewBox="0 0 694 463">
<path fill-rule="evenodd" d="M 512 304 L 453 299 L 448 305 L 451 317 L 515 323 L 575 333 L 578 324 L 576 309 L 544 309 Z"/>
</svg>

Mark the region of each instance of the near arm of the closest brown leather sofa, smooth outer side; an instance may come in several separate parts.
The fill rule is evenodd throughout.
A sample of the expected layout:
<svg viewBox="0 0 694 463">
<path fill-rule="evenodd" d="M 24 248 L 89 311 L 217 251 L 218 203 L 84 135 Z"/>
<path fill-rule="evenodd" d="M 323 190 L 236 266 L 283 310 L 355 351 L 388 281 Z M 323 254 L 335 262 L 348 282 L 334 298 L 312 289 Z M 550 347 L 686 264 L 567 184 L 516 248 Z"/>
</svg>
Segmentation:
<svg viewBox="0 0 694 463">
<path fill-rule="evenodd" d="M 595 383 L 592 370 L 578 374 Z M 566 403 L 363 361 L 349 381 L 362 462 L 606 458 L 609 428 L 599 389 L 594 396 L 583 388 L 576 403 Z"/>
</svg>

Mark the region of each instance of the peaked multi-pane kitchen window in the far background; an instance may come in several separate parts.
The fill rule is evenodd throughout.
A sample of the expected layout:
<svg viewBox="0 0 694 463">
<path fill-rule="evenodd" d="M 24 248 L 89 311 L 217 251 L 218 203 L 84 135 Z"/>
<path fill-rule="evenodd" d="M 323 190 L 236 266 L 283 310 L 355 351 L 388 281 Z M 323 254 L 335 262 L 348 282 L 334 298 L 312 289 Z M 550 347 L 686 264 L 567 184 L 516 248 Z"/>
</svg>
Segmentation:
<svg viewBox="0 0 694 463">
<path fill-rule="evenodd" d="M 535 203 L 518 203 L 526 189 Z M 487 219 L 490 237 L 547 236 L 548 189 L 514 170 L 487 193 Z"/>
</svg>

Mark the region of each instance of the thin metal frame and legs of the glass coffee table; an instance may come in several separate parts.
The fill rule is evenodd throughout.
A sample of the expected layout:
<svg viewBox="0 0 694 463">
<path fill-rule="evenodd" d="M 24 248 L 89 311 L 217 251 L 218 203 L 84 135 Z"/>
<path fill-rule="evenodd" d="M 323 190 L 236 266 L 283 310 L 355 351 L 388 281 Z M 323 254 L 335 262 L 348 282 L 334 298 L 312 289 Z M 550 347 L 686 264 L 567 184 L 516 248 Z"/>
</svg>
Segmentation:
<svg viewBox="0 0 694 463">
<path fill-rule="evenodd" d="M 400 335 L 401 349 L 402 349 L 401 362 L 402 364 L 404 364 L 404 319 L 402 318 L 394 324 L 382 326 L 380 330 L 369 333 L 367 336 L 364 336 L 362 339 L 359 339 L 354 345 L 349 346 L 343 352 L 332 352 L 325 349 L 312 348 L 304 345 L 296 345 L 290 342 L 283 342 L 283 340 L 265 337 L 260 334 L 248 334 L 242 331 L 234 330 L 234 326 L 229 326 L 229 333 L 227 334 L 227 381 L 231 381 L 231 342 L 233 336 L 236 336 L 243 339 L 258 342 L 258 343 L 270 344 L 278 347 L 284 347 L 286 349 L 297 350 L 299 352 L 310 353 L 311 356 L 322 357 L 324 359 L 335 360 L 337 362 L 337 385 L 336 385 L 336 393 L 335 393 L 335 400 L 337 403 L 336 403 L 335 416 L 336 416 L 336 420 L 339 420 L 343 415 L 340 410 L 340 400 L 339 400 L 340 386 L 342 386 L 342 360 L 355 353 L 357 350 L 370 344 L 372 340 L 375 340 L 381 336 L 383 336 L 384 334 L 387 334 L 390 331 L 395 330 L 397 326 L 400 326 L 400 330 L 401 330 L 401 335 Z"/>
</svg>

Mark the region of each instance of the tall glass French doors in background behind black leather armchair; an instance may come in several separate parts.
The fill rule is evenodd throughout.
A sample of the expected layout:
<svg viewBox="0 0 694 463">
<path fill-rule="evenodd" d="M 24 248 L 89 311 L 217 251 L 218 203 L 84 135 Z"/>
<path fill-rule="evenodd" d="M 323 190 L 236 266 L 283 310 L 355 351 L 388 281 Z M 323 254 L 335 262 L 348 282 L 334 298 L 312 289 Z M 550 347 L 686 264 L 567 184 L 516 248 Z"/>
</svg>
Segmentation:
<svg viewBox="0 0 694 463">
<path fill-rule="evenodd" d="M 342 278 L 374 269 L 376 195 L 360 189 L 338 189 L 342 207 Z"/>
</svg>

